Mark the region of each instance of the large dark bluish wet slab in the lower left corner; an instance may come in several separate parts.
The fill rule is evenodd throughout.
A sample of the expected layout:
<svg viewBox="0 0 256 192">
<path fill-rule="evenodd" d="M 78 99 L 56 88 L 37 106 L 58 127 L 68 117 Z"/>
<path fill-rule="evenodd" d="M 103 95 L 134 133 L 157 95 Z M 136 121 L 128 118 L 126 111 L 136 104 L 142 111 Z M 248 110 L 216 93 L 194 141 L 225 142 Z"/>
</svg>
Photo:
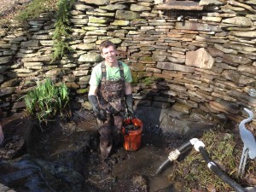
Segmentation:
<svg viewBox="0 0 256 192">
<path fill-rule="evenodd" d="M 2 160 L 0 167 L 0 182 L 13 186 L 17 191 L 23 188 L 23 191 L 49 192 L 49 185 L 68 192 L 82 191 L 83 188 L 84 180 L 79 172 L 47 160 L 33 159 L 29 155 L 16 160 Z"/>
</svg>

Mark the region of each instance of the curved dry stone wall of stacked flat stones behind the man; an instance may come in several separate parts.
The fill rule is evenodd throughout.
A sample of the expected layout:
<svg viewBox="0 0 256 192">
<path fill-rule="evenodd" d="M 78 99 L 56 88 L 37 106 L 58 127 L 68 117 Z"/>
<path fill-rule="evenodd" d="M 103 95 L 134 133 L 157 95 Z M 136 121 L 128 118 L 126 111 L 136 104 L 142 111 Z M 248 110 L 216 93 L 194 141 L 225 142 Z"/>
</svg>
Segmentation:
<svg viewBox="0 0 256 192">
<path fill-rule="evenodd" d="M 256 1 L 78 0 L 70 10 L 75 50 L 51 62 L 55 13 L 0 30 L 0 105 L 25 107 L 37 79 L 65 81 L 84 108 L 98 45 L 110 39 L 132 70 L 137 106 L 201 108 L 241 120 L 256 108 Z"/>
</svg>

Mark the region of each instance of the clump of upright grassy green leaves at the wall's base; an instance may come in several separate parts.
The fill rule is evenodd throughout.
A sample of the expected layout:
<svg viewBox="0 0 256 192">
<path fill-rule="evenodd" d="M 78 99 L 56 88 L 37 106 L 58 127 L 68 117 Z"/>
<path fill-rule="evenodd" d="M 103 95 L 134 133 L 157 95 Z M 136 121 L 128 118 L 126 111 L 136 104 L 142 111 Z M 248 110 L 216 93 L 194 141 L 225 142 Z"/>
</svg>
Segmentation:
<svg viewBox="0 0 256 192">
<path fill-rule="evenodd" d="M 41 126 L 55 120 L 69 102 L 67 86 L 64 83 L 56 86 L 50 79 L 44 83 L 37 82 L 37 87 L 25 96 L 26 113 L 36 119 Z"/>
</svg>

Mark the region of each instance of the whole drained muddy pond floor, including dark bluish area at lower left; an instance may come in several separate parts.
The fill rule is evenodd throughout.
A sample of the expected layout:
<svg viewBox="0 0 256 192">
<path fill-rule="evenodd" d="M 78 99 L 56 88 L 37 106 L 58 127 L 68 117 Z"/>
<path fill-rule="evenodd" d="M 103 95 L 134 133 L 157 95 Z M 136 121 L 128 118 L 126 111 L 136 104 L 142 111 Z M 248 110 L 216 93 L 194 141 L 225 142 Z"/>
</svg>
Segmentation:
<svg viewBox="0 0 256 192">
<path fill-rule="evenodd" d="M 5 136 L 22 135 L 26 152 L 1 161 L 1 183 L 16 191 L 174 191 L 168 179 L 172 166 L 154 175 L 171 151 L 159 131 L 143 129 L 141 148 L 113 148 L 108 160 L 102 161 L 96 129 L 96 120 L 87 111 L 77 113 L 72 121 L 61 121 L 46 134 L 24 113 L 4 119 Z"/>
</svg>

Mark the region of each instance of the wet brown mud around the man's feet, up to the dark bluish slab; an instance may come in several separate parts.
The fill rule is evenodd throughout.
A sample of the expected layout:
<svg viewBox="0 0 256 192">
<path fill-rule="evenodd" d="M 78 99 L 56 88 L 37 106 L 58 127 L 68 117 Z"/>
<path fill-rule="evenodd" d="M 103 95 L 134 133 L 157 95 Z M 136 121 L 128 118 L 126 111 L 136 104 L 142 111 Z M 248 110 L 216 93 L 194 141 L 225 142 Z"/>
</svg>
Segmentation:
<svg viewBox="0 0 256 192">
<path fill-rule="evenodd" d="M 54 131 L 42 134 L 25 113 L 3 119 L 7 137 L 20 134 L 25 138 L 25 154 L 79 172 L 84 177 L 82 191 L 175 191 L 175 183 L 168 179 L 172 166 L 166 166 L 160 175 L 155 175 L 173 149 L 168 147 L 171 138 L 161 136 L 159 131 L 145 129 L 141 148 L 137 151 L 126 151 L 120 146 L 113 148 L 108 160 L 101 160 L 96 119 L 90 112 L 78 113 L 71 121 L 60 121 L 59 125 Z"/>
</svg>

